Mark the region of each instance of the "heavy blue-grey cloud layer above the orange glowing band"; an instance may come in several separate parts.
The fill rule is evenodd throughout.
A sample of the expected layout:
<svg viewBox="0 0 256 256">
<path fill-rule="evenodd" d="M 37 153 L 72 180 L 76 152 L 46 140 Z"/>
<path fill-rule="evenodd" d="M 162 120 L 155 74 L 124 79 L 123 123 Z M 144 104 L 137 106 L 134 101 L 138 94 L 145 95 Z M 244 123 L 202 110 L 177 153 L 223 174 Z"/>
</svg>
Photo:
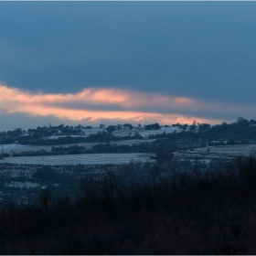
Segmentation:
<svg viewBox="0 0 256 256">
<path fill-rule="evenodd" d="M 254 103 L 255 13 L 255 2 L 1 2 L 0 80 Z"/>
</svg>

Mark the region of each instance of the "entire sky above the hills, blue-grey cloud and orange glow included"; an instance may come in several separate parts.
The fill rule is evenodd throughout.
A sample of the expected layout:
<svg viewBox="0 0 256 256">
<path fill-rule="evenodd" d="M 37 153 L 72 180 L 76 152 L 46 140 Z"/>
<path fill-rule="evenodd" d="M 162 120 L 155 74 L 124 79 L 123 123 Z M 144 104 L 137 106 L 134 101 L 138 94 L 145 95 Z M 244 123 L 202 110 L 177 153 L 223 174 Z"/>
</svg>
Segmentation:
<svg viewBox="0 0 256 256">
<path fill-rule="evenodd" d="M 256 119 L 256 2 L 0 2 L 0 131 Z"/>
</svg>

